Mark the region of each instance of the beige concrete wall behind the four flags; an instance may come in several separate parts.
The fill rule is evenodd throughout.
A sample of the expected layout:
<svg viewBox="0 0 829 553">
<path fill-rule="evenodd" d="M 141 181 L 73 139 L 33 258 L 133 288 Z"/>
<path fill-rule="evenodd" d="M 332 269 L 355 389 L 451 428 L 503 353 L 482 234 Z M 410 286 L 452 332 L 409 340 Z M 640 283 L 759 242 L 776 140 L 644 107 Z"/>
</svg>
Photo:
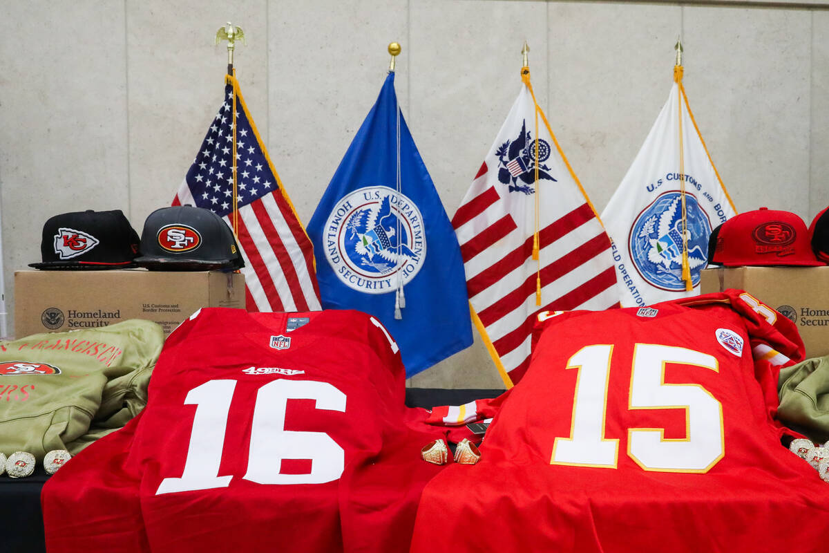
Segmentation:
<svg viewBox="0 0 829 553">
<path fill-rule="evenodd" d="M 4 2 L 0 193 L 7 304 L 65 211 L 167 205 L 219 104 L 227 20 L 271 158 L 307 222 L 400 41 L 397 90 L 451 216 L 520 86 L 536 95 L 601 211 L 686 46 L 697 123 L 740 211 L 829 205 L 829 2 L 79 0 Z M 9 317 L 11 323 L 11 317 Z M 479 342 L 414 386 L 501 386 Z"/>
</svg>

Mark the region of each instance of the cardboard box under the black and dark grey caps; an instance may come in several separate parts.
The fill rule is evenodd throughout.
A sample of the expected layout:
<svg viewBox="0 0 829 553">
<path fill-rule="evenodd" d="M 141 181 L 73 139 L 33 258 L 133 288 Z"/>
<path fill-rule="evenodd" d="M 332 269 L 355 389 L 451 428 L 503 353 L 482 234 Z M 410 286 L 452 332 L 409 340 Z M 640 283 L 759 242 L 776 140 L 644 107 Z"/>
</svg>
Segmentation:
<svg viewBox="0 0 829 553">
<path fill-rule="evenodd" d="M 167 336 L 198 308 L 245 308 L 245 276 L 219 271 L 17 271 L 17 337 L 155 321 Z"/>
</svg>

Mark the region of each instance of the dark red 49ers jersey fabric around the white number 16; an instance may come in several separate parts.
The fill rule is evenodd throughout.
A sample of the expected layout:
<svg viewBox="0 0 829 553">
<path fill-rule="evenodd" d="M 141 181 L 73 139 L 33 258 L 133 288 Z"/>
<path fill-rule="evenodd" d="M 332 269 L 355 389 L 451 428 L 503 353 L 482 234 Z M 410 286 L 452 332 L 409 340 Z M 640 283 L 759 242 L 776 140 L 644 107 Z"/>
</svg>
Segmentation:
<svg viewBox="0 0 829 553">
<path fill-rule="evenodd" d="M 310 322 L 288 332 L 288 317 Z M 274 336 L 290 338 L 289 347 L 271 347 Z M 424 424 L 425 410 L 405 407 L 405 371 L 395 348 L 364 313 L 202 309 L 168 338 L 140 417 L 90 445 L 46 483 L 49 551 L 406 551 L 421 489 L 440 470 L 424 463 L 419 449 L 444 431 Z M 304 372 L 244 372 L 250 368 Z M 158 494 L 162 481 L 182 478 L 190 461 L 194 422 L 203 415 L 196 411 L 221 411 L 214 400 L 186 404 L 188 393 L 227 381 L 235 388 L 221 464 L 208 476 L 232 476 L 230 483 Z M 311 382 L 334 395 L 336 389 L 345 410 L 314 399 L 257 404 L 276 381 Z M 284 405 L 285 431 L 327 436 L 344 450 L 339 478 L 287 484 L 245 478 L 255 457 L 255 413 L 274 403 Z M 272 416 L 262 420 L 283 430 Z M 260 435 L 259 445 L 277 441 Z M 306 452 L 264 462 L 275 473 L 308 474 L 318 461 Z M 206 457 L 196 461 L 209 464 Z"/>
</svg>

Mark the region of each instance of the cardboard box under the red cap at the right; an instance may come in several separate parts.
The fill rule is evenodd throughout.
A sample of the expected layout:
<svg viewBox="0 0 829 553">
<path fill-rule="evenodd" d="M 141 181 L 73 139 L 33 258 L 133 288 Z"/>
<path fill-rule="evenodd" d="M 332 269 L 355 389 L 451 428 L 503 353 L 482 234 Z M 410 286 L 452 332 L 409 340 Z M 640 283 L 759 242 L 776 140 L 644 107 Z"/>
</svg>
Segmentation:
<svg viewBox="0 0 829 553">
<path fill-rule="evenodd" d="M 829 354 L 829 266 L 704 269 L 701 293 L 746 292 L 797 324 L 806 357 Z"/>
</svg>

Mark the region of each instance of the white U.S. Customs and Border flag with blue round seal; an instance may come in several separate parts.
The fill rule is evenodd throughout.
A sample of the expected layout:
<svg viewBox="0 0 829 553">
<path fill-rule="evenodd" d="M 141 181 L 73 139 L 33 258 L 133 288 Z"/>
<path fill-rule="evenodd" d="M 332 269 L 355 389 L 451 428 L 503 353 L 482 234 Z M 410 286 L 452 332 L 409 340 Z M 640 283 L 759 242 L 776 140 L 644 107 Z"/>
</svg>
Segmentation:
<svg viewBox="0 0 829 553">
<path fill-rule="evenodd" d="M 736 210 L 682 86 L 682 65 L 628 173 L 602 213 L 623 307 L 699 293 L 708 237 Z"/>
</svg>

